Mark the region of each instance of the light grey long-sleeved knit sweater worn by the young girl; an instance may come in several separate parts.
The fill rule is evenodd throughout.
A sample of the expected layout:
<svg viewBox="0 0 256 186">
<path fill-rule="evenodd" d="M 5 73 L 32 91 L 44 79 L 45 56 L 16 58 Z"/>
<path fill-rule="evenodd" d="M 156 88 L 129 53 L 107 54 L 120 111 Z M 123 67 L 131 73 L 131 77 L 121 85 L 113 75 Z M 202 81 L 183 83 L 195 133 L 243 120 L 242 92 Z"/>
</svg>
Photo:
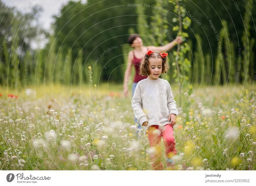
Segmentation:
<svg viewBox="0 0 256 186">
<path fill-rule="evenodd" d="M 148 126 L 164 126 L 170 123 L 170 114 L 178 115 L 171 86 L 161 78 L 146 78 L 138 82 L 132 98 L 132 109 L 140 124 L 148 121 Z"/>
</svg>

